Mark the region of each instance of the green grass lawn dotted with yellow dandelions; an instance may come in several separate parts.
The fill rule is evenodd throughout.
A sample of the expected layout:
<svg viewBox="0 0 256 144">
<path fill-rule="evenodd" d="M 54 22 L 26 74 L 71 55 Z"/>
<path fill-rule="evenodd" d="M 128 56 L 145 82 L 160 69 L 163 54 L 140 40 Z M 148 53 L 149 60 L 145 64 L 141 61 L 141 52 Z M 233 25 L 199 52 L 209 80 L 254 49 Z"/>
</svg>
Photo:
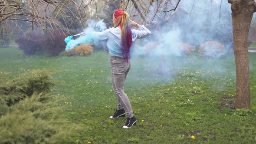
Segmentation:
<svg viewBox="0 0 256 144">
<path fill-rule="evenodd" d="M 32 69 L 56 69 L 53 97 L 69 121 L 84 124 L 64 143 L 87 144 L 253 144 L 256 143 L 256 53 L 249 53 L 251 109 L 234 110 L 234 56 L 203 59 L 141 57 L 132 60 L 125 93 L 137 125 L 123 129 L 125 118 L 111 120 L 117 105 L 112 92 L 109 56 L 23 56 L 16 47 L 0 49 L 0 76 L 12 78 Z M 159 64 L 167 62 L 167 64 Z M 160 69 L 165 69 L 164 73 Z M 194 136 L 195 139 L 192 139 Z"/>
</svg>

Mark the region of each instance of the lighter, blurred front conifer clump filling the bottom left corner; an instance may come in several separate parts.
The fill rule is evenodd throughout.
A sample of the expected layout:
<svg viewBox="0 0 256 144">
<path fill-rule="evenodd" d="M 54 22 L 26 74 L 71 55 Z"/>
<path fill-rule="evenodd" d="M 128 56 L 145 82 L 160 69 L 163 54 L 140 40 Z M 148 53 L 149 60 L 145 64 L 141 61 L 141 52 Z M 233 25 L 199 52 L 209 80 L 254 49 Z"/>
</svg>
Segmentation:
<svg viewBox="0 0 256 144">
<path fill-rule="evenodd" d="M 61 143 L 82 128 L 81 125 L 63 119 L 61 113 L 64 109 L 57 106 L 56 98 L 50 101 L 49 98 L 50 95 L 40 93 L 13 105 L 11 110 L 0 118 L 0 143 Z"/>
</svg>

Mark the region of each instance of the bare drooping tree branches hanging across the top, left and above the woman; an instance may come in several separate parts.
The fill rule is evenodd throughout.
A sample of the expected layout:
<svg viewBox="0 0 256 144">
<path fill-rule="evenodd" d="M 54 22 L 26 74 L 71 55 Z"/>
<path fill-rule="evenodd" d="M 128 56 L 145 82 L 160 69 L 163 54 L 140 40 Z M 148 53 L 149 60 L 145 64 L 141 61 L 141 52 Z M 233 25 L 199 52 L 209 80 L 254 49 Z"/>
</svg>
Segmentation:
<svg viewBox="0 0 256 144">
<path fill-rule="evenodd" d="M 24 1 L 26 3 L 22 3 Z M 1 0 L 0 24 L 5 33 L 9 32 L 10 23 L 19 27 L 17 21 L 30 22 L 32 29 L 35 26 L 42 29 L 61 27 L 65 32 L 69 32 L 69 27 L 75 21 L 83 27 L 88 18 L 96 17 L 98 19 L 102 7 L 107 7 L 106 1 L 109 0 Z M 155 17 L 161 17 L 159 13 L 175 11 L 180 1 L 115 0 L 112 3 L 119 2 L 119 8 L 123 9 L 135 8 L 136 13 L 132 16 L 141 16 L 145 22 L 154 23 Z M 101 6 L 98 6 L 100 3 Z M 71 8 L 70 5 L 73 7 Z M 155 9 L 153 6 L 157 8 Z M 170 19 L 172 15 L 173 13 L 166 15 L 166 20 Z M 57 17 L 61 18 L 64 24 L 60 23 Z M 72 21 L 67 19 L 72 19 Z M 20 30 L 22 31 L 21 28 Z"/>
</svg>

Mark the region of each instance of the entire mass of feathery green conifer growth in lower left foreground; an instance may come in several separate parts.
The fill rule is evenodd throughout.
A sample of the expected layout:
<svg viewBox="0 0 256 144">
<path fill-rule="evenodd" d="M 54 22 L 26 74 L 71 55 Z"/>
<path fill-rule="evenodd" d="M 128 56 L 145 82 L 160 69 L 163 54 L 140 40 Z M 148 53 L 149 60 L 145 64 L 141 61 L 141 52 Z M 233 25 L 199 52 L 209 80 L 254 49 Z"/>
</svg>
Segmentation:
<svg viewBox="0 0 256 144">
<path fill-rule="evenodd" d="M 33 70 L 0 81 L 0 144 L 62 143 L 83 128 L 62 116 L 64 98 L 49 95 L 54 73 Z"/>
</svg>

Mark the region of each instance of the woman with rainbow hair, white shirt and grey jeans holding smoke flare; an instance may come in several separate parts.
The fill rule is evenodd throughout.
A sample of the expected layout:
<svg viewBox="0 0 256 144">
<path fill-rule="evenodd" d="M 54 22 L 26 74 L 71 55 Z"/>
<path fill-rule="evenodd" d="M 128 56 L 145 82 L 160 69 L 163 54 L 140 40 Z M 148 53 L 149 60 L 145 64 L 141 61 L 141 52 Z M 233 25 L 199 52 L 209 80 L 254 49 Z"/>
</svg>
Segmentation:
<svg viewBox="0 0 256 144">
<path fill-rule="evenodd" d="M 118 106 L 109 118 L 124 117 L 127 114 L 127 121 L 123 128 L 131 128 L 136 124 L 136 118 L 132 112 L 131 104 L 124 92 L 126 76 L 131 68 L 131 48 L 135 45 L 136 39 L 148 36 L 151 32 L 143 25 L 138 25 L 130 20 L 125 10 L 115 10 L 113 14 L 114 27 L 103 32 L 94 32 L 98 39 L 107 40 L 108 52 L 111 63 L 111 80 Z M 131 29 L 135 26 L 137 29 Z"/>
</svg>

